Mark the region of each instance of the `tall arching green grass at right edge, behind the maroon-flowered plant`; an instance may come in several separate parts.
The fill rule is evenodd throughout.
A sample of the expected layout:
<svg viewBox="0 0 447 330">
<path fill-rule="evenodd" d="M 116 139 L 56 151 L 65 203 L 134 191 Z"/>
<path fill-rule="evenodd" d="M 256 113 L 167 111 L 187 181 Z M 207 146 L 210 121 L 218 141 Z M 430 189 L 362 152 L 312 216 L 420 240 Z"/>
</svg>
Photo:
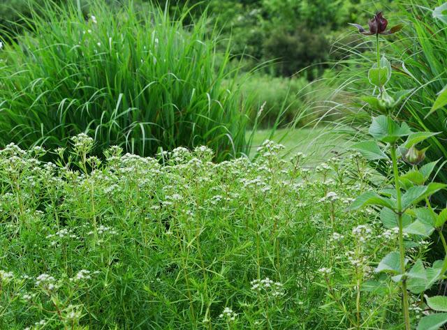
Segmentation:
<svg viewBox="0 0 447 330">
<path fill-rule="evenodd" d="M 381 47 L 389 55 L 393 67 L 393 76 L 389 82 L 390 91 L 410 89 L 411 93 L 404 99 L 393 116 L 398 121 L 406 121 L 411 128 L 425 132 L 439 132 L 425 141 L 427 160 L 446 160 L 447 138 L 446 107 L 430 114 L 437 94 L 447 84 L 447 24 L 433 15 L 433 10 L 445 1 L 420 0 L 401 1 L 400 13 L 395 13 L 395 23 L 400 20 L 404 29 L 400 35 L 388 41 L 381 41 Z M 400 17 L 399 19 L 397 17 Z M 362 96 L 370 93 L 374 87 L 365 77 L 365 70 L 375 60 L 374 43 L 365 41 L 351 56 L 340 64 L 346 70 L 340 75 L 342 84 L 351 96 Z M 369 61 L 366 61 L 369 60 Z M 365 86 L 369 86 L 365 90 Z M 376 93 L 376 91 L 375 91 Z M 358 112 L 358 104 L 345 117 L 350 126 L 366 128 L 371 116 L 382 114 L 378 110 L 362 110 Z M 447 182 L 447 169 L 441 167 L 437 173 L 438 181 Z M 443 202 L 445 204 L 445 202 Z"/>
</svg>

